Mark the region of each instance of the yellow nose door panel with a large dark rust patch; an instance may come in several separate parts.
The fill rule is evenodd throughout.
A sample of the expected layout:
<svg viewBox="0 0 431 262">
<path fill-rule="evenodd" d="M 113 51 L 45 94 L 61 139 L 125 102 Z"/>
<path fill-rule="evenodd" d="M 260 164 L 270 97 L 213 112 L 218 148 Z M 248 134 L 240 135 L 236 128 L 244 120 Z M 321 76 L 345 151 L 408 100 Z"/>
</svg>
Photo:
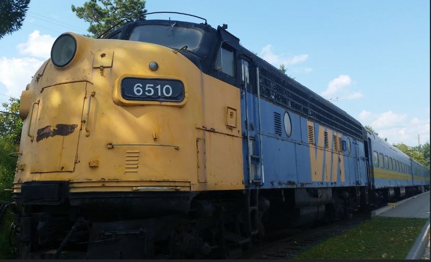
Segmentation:
<svg viewBox="0 0 431 262">
<path fill-rule="evenodd" d="M 85 86 L 85 82 L 68 83 L 41 93 L 30 173 L 74 170 Z"/>
</svg>

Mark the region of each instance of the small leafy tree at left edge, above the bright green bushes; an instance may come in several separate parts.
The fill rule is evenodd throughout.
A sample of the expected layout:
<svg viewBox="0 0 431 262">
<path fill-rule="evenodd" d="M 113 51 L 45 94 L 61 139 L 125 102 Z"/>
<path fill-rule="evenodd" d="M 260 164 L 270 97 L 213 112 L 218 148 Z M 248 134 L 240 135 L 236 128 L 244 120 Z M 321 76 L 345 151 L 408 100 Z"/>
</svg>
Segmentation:
<svg viewBox="0 0 431 262">
<path fill-rule="evenodd" d="M 18 115 L 19 100 L 11 97 L 9 103 L 2 103 L 2 106 L 9 113 L 0 113 L 0 137 L 8 138 L 18 145 L 22 130 L 22 120 Z"/>
</svg>

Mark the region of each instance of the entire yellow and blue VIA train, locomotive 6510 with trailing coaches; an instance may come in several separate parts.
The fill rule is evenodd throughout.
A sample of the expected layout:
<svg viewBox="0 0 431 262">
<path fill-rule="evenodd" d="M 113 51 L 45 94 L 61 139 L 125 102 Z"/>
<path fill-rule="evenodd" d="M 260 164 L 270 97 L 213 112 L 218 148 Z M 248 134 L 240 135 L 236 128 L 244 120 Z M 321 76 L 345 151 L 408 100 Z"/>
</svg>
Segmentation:
<svg viewBox="0 0 431 262">
<path fill-rule="evenodd" d="M 226 29 L 56 39 L 21 95 L 19 258 L 230 257 L 429 189 L 428 169 Z"/>
</svg>

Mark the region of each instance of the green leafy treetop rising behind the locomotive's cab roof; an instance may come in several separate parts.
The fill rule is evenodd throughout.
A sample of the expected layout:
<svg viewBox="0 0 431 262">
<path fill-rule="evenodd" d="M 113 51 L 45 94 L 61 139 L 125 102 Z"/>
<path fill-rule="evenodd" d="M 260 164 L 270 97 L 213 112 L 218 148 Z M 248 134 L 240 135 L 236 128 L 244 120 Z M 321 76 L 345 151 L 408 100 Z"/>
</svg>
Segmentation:
<svg viewBox="0 0 431 262">
<path fill-rule="evenodd" d="M 87 36 L 93 38 L 103 37 L 114 31 L 122 25 L 120 23 L 114 26 L 122 19 L 130 21 L 145 18 L 143 14 L 146 11 L 143 0 L 89 0 L 82 7 L 72 5 L 72 12 L 76 12 L 76 16 L 90 23 L 87 31 L 91 35 Z M 111 26 L 114 27 L 109 29 Z"/>
</svg>

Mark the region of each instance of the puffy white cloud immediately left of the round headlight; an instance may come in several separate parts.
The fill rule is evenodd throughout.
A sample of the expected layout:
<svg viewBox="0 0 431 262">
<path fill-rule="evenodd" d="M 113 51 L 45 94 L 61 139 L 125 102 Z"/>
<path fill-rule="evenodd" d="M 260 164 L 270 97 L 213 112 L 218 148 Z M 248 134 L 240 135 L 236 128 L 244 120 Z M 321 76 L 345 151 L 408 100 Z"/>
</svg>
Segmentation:
<svg viewBox="0 0 431 262">
<path fill-rule="evenodd" d="M 54 41 L 55 38 L 50 35 L 41 35 L 40 31 L 34 30 L 32 34 L 28 35 L 27 42 L 19 44 L 17 48 L 21 55 L 48 59 Z"/>
</svg>

